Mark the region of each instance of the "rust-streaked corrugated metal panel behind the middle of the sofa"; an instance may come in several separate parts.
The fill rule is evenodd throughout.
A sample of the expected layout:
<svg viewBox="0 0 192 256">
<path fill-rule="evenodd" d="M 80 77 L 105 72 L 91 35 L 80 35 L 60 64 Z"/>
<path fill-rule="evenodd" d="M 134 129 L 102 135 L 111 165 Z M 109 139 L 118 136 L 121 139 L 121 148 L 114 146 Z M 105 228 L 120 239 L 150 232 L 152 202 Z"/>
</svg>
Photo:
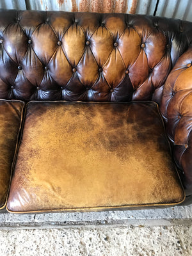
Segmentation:
<svg viewBox="0 0 192 256">
<path fill-rule="evenodd" d="M 29 10 L 123 12 L 153 15 L 157 0 L 27 0 Z"/>
</svg>

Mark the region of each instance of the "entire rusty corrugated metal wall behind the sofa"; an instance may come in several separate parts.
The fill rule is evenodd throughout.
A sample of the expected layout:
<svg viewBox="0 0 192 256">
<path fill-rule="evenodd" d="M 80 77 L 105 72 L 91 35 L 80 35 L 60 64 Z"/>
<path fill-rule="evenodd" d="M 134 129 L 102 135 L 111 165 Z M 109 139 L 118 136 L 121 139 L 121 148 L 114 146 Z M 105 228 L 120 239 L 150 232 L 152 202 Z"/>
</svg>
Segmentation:
<svg viewBox="0 0 192 256">
<path fill-rule="evenodd" d="M 192 21 L 192 0 L 0 0 L 0 8 L 63 10 L 67 12 L 123 12 Z"/>
</svg>

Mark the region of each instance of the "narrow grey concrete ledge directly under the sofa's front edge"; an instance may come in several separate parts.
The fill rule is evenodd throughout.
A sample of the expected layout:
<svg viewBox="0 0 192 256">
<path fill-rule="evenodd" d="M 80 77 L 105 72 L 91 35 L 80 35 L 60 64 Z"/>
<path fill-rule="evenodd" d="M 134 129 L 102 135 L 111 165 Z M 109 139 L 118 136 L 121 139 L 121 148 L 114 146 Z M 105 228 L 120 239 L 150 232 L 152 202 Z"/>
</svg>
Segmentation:
<svg viewBox="0 0 192 256">
<path fill-rule="evenodd" d="M 81 225 L 189 225 L 192 205 L 164 209 L 47 214 L 0 214 L 0 227 L 63 227 Z"/>
</svg>

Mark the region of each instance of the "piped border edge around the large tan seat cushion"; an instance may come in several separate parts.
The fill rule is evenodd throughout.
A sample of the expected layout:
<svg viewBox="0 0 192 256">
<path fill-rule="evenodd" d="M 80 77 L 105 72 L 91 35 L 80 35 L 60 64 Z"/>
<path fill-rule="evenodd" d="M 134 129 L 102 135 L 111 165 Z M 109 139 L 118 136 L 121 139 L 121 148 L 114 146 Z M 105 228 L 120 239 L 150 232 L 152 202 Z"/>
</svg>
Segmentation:
<svg viewBox="0 0 192 256">
<path fill-rule="evenodd" d="M 165 127 L 164 127 L 164 121 L 163 121 L 163 117 L 161 116 L 161 113 L 159 111 L 159 105 L 154 102 L 154 101 L 130 101 L 130 102 L 82 102 L 82 101 L 67 101 L 67 100 L 31 100 L 29 101 L 27 104 L 26 104 L 26 108 L 25 108 L 25 111 L 24 111 L 24 115 L 23 115 L 23 120 L 26 118 L 26 111 L 27 111 L 27 108 L 28 108 L 28 105 L 33 103 L 33 102 L 65 102 L 65 103 L 73 103 L 73 104 L 76 104 L 76 103 L 81 103 L 81 104 L 89 104 L 89 103 L 94 103 L 94 104 L 131 104 L 131 103 L 152 103 L 156 106 L 157 108 L 157 113 L 159 114 L 159 117 L 161 118 L 161 123 L 163 125 L 163 129 L 164 129 L 164 135 L 166 137 L 166 140 L 168 141 L 168 145 L 169 145 L 169 148 L 170 148 L 170 153 L 171 153 L 171 156 L 172 156 L 172 148 L 170 146 L 170 141 L 168 139 L 168 136 L 166 134 L 166 131 L 165 131 Z M 20 141 L 22 140 L 22 132 L 23 132 L 23 129 L 24 129 L 24 122 L 22 122 L 22 128 L 20 130 Z M 19 143 L 20 143 L 19 141 Z M 172 157 L 173 159 L 173 157 Z M 16 159 L 15 159 L 16 161 Z M 182 192 L 183 192 L 183 198 L 182 200 L 180 200 L 179 202 L 173 202 L 173 203 L 161 203 L 161 204 L 141 204 L 141 205 L 115 205 L 115 206 L 105 206 L 105 207 L 84 207 L 84 208 L 72 208 L 72 209 L 45 209 L 45 210 L 37 210 L 37 211 L 11 211 L 10 209 L 8 209 L 7 205 L 6 205 L 6 211 L 10 212 L 10 213 L 14 213 L 14 214 L 41 214 L 41 213 L 49 213 L 49 212 L 90 212 L 90 211 L 93 211 L 93 212 L 97 212 L 97 211 L 118 211 L 118 210 L 131 210 L 131 209 L 150 209 L 150 208 L 156 208 L 156 207 L 159 207 L 159 208 L 163 208 L 163 207 L 172 207 L 174 205 L 178 205 L 178 204 L 182 204 L 184 202 L 184 200 L 186 199 L 186 194 L 184 192 L 184 187 L 182 185 L 182 182 L 181 182 L 181 179 L 180 179 L 180 175 L 179 175 L 179 172 L 177 171 L 177 167 L 175 165 L 175 162 L 173 160 L 173 164 L 175 166 L 175 172 L 177 173 L 177 177 L 179 179 L 179 182 L 180 182 L 180 186 L 182 188 Z"/>
</svg>

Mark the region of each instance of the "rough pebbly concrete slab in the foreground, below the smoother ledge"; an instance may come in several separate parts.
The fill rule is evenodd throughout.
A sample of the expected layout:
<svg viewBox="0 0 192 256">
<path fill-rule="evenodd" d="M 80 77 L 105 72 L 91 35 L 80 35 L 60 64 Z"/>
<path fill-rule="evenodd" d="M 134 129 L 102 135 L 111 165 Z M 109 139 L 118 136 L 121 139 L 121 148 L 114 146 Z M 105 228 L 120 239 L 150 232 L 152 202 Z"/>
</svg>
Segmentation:
<svg viewBox="0 0 192 256">
<path fill-rule="evenodd" d="M 2 256 L 191 256 L 191 226 L 0 230 Z"/>
</svg>

